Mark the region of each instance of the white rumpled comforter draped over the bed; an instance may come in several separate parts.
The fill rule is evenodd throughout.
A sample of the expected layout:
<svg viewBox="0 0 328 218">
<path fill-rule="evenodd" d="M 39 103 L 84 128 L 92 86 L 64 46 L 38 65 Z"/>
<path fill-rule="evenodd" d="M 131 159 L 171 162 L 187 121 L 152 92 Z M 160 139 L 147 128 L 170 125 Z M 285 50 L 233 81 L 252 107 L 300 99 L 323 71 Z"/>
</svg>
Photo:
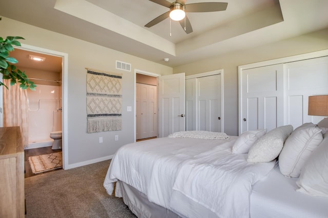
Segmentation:
<svg viewBox="0 0 328 218">
<path fill-rule="evenodd" d="M 275 163 L 248 163 L 246 155 L 232 154 L 235 139 L 167 137 L 127 144 L 111 161 L 104 187 L 111 195 L 120 180 L 185 217 L 199 217 L 197 204 L 218 217 L 249 217 L 252 185 Z"/>
</svg>

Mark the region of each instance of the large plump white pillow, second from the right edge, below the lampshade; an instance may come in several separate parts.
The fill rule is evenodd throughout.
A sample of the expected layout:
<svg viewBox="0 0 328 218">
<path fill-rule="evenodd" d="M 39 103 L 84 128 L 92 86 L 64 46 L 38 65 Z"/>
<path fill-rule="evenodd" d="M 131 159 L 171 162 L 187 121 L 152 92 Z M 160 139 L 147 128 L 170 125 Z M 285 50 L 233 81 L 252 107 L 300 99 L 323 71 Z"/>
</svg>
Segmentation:
<svg viewBox="0 0 328 218">
<path fill-rule="evenodd" d="M 287 177 L 299 177 L 301 168 L 323 137 L 315 124 L 303 124 L 286 139 L 279 155 L 280 172 Z"/>
</svg>

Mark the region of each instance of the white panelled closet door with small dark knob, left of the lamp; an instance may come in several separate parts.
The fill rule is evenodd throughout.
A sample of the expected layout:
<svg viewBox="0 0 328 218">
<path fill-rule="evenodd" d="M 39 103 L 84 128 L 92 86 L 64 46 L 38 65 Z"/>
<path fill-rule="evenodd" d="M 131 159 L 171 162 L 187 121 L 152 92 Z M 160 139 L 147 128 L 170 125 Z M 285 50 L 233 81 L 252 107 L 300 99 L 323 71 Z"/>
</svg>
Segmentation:
<svg viewBox="0 0 328 218">
<path fill-rule="evenodd" d="M 241 134 L 283 125 L 283 64 L 242 70 Z"/>
</svg>

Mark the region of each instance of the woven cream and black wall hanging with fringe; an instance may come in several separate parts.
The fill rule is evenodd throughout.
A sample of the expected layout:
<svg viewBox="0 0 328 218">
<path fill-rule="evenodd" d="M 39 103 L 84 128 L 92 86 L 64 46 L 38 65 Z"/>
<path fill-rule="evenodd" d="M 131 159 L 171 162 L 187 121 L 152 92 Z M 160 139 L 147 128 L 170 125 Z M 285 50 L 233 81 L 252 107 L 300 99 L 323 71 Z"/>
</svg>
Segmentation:
<svg viewBox="0 0 328 218">
<path fill-rule="evenodd" d="M 122 75 L 87 69 L 87 132 L 121 130 Z"/>
</svg>

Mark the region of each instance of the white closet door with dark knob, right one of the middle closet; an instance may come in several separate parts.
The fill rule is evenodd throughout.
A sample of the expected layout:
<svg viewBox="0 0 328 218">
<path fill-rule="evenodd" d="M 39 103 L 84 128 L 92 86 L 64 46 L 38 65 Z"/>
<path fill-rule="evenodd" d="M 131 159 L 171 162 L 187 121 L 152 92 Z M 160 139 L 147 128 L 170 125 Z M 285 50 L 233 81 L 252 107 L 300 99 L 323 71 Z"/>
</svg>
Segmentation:
<svg viewBox="0 0 328 218">
<path fill-rule="evenodd" d="M 221 132 L 221 75 L 197 78 L 197 126 Z"/>
</svg>

